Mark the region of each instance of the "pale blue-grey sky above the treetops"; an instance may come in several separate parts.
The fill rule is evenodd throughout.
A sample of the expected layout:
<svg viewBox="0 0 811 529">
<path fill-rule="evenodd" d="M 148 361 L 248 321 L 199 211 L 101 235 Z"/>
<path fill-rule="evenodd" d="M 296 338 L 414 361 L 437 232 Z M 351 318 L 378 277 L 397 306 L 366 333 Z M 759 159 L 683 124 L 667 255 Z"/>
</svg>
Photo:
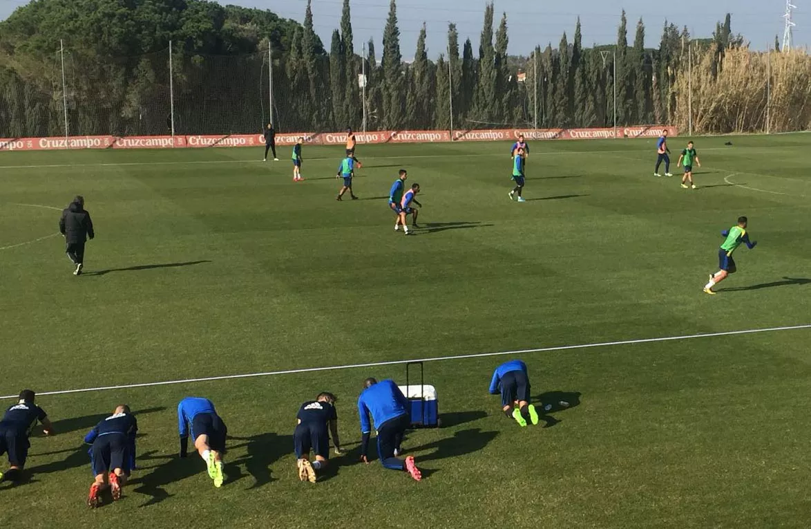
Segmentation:
<svg viewBox="0 0 811 529">
<path fill-rule="evenodd" d="M 27 0 L 0 0 L 0 19 L 5 19 L 16 7 Z M 221 0 L 242 6 L 260 7 L 285 18 L 302 21 L 306 0 Z M 482 30 L 486 0 L 399 0 L 397 19 L 401 32 L 401 51 L 404 58 L 414 57 L 419 28 L 427 24 L 428 54 L 436 58 L 445 47 L 448 21 L 457 24 L 460 44 L 466 38 L 474 43 L 478 53 L 478 38 Z M 796 0 L 797 27 L 794 42 L 798 46 L 811 44 L 811 1 Z M 329 45 L 333 28 L 341 19 L 341 0 L 313 0 L 315 31 L 324 45 Z M 388 0 L 352 0 L 352 27 L 356 52 L 363 41 L 375 40 L 378 59 L 382 51 L 381 38 L 388 15 Z M 662 33 L 664 20 L 677 26 L 692 28 L 693 35 L 709 37 L 717 20 L 732 13 L 732 30 L 744 34 L 754 48 L 765 49 L 775 41 L 775 34 L 783 37 L 784 0 L 573 0 L 570 2 L 542 2 L 542 0 L 496 0 L 496 15 L 507 12 L 509 27 L 509 53 L 529 54 L 534 45 L 556 46 L 562 32 L 569 41 L 574 32 L 577 15 L 583 26 L 583 43 L 609 44 L 616 41 L 616 27 L 622 9 L 629 18 L 629 44 L 633 42 L 637 19 L 646 24 L 646 45 L 656 46 Z M 497 20 L 496 20 L 497 23 Z"/>
</svg>

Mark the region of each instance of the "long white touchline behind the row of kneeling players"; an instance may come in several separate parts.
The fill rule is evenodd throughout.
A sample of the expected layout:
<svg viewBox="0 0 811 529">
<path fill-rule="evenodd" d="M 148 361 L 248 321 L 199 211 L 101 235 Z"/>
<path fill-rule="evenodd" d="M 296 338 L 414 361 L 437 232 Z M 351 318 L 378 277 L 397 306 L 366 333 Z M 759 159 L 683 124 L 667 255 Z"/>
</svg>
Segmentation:
<svg viewBox="0 0 811 529">
<path fill-rule="evenodd" d="M 295 373 L 307 372 L 320 372 L 320 371 L 337 371 L 341 369 L 358 369 L 358 368 L 375 368 L 379 366 L 397 365 L 410 362 L 438 362 L 440 360 L 460 360 L 469 358 L 483 358 L 487 356 L 506 356 L 506 355 L 528 355 L 530 353 L 543 353 L 549 351 L 572 351 L 577 349 L 592 349 L 594 347 L 610 347 L 610 346 L 628 346 L 639 343 L 654 343 L 654 342 L 675 342 L 678 340 L 692 340 L 695 338 L 716 338 L 719 336 L 736 336 L 740 334 L 754 334 L 754 333 L 775 333 L 779 331 L 796 330 L 796 329 L 811 329 L 811 324 L 807 325 L 790 325 L 784 327 L 769 327 L 766 329 L 746 329 L 736 331 L 726 331 L 722 333 L 704 333 L 704 334 L 689 334 L 686 336 L 668 336 L 663 338 L 639 338 L 635 340 L 621 340 L 619 342 L 599 342 L 599 343 L 585 343 L 574 346 L 555 346 L 555 347 L 540 347 L 538 349 L 521 349 L 519 351 L 499 351 L 491 353 L 477 353 L 474 355 L 456 355 L 456 356 L 435 356 L 431 358 L 422 359 L 409 359 L 409 360 L 392 360 L 388 362 L 371 362 L 371 363 L 353 363 L 347 365 L 328 366 L 323 368 L 304 368 L 304 369 L 285 369 L 282 371 L 268 371 L 258 373 L 246 373 L 242 375 L 223 375 L 223 376 L 205 376 L 202 378 L 188 378 L 180 381 L 162 381 L 162 382 L 143 382 L 140 384 L 125 384 L 125 385 L 107 385 L 99 386 L 97 388 L 83 388 L 83 389 L 60 389 L 57 391 L 42 391 L 37 392 L 38 395 L 62 395 L 85 393 L 88 391 L 103 391 L 106 389 L 128 389 L 128 388 L 144 388 L 156 385 L 174 385 L 174 384 L 188 384 L 191 382 L 208 382 L 208 381 L 226 381 L 238 378 L 253 378 L 256 376 L 273 376 L 273 375 L 291 375 Z M 17 398 L 17 395 L 2 395 L 0 398 Z"/>
</svg>

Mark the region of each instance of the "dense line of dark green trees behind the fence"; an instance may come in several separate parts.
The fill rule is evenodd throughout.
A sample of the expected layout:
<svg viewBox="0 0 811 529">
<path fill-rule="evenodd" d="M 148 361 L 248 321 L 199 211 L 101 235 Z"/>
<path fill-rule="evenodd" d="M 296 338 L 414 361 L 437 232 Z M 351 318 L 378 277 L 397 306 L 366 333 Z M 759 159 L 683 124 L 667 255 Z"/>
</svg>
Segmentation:
<svg viewBox="0 0 811 529">
<path fill-rule="evenodd" d="M 169 126 L 169 41 L 174 45 L 174 123 L 180 133 L 256 131 L 270 115 L 268 66 L 274 121 L 282 131 L 362 127 L 363 84 L 370 130 L 448 129 L 452 124 L 456 129 L 610 126 L 615 81 L 620 126 L 682 124 L 691 56 L 693 75 L 702 80 L 696 89 L 705 91 L 732 75 L 724 71 L 727 55 L 734 55 L 736 64 L 741 54 L 761 56 L 732 33 L 730 15 L 710 39 L 695 39 L 686 28 L 666 23 L 655 48 L 645 46 L 642 19 L 632 26 L 631 41 L 624 12 L 619 20 L 611 45 L 584 47 L 577 19 L 571 41 L 564 32 L 555 48 L 550 43 L 527 57 L 513 57 L 507 53 L 508 16 L 497 18 L 490 3 L 478 53 L 470 39 L 460 43 L 456 26 L 449 24 L 447 48 L 431 60 L 423 24 L 414 61 L 405 63 L 396 0 L 390 2 L 380 61 L 373 41 L 362 46 L 365 54 L 354 44 L 350 0 L 344 0 L 328 50 L 315 34 L 311 2 L 298 24 L 270 11 L 201 0 L 131 0 L 126 5 L 41 0 L 0 23 L 0 136 L 61 133 L 63 97 L 71 133 L 164 133 Z M 68 50 L 65 93 L 60 37 Z M 808 69 L 807 59 L 803 54 L 796 60 Z M 762 105 L 752 112 L 764 114 L 765 100 Z M 727 101 L 726 108 L 732 106 Z M 707 131 L 765 124 L 763 119 L 719 118 L 718 113 L 696 110 L 696 117 L 712 115 L 716 121 L 695 121 Z M 715 130 L 718 123 L 723 130 Z"/>
</svg>

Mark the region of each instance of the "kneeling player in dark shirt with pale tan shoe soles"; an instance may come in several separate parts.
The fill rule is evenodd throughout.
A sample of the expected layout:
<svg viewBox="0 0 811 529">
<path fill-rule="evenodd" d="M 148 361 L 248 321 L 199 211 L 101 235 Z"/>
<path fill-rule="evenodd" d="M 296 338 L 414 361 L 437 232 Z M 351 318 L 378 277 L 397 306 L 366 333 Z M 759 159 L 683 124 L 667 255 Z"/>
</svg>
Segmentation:
<svg viewBox="0 0 811 529">
<path fill-rule="evenodd" d="M 314 401 L 304 402 L 298 410 L 296 415 L 298 424 L 293 432 L 293 444 L 299 480 L 315 483 L 317 471 L 327 466 L 330 435 L 335 444 L 335 454 L 341 454 L 336 401 L 335 395 L 322 393 Z M 310 462 L 310 450 L 315 454 L 313 462 Z"/>
</svg>

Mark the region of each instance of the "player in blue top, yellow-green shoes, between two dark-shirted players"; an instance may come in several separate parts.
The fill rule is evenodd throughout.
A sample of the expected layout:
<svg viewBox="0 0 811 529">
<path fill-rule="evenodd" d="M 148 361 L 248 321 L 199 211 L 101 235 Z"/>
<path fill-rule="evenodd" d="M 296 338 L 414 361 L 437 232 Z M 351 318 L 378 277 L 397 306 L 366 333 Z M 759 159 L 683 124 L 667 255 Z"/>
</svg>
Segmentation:
<svg viewBox="0 0 811 529">
<path fill-rule="evenodd" d="M 208 467 L 208 477 L 214 480 L 215 487 L 221 487 L 225 480 L 222 454 L 225 453 L 225 436 L 228 434 L 228 428 L 208 398 L 187 397 L 178 404 L 181 458 L 187 455 L 190 428 L 195 449 Z"/>
</svg>

